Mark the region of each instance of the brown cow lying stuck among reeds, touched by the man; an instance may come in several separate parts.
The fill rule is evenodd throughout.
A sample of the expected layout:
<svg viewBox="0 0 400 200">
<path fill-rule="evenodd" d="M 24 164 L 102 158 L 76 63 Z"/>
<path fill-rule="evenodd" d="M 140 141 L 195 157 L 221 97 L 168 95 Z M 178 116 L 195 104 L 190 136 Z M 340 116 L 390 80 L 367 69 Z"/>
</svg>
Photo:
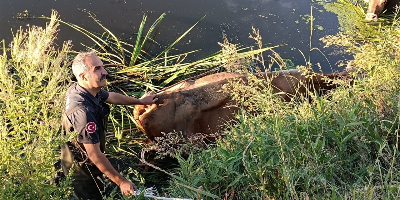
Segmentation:
<svg viewBox="0 0 400 200">
<path fill-rule="evenodd" d="M 324 76 L 330 79 L 350 77 L 346 70 L 324 76 L 315 73 L 312 78 L 306 77 L 301 70 L 254 75 L 257 78 L 272 78 L 274 92 L 285 92 L 280 97 L 286 102 L 293 96 L 306 95 L 306 87 L 312 93 L 316 90 L 320 95 L 337 87 L 332 81 L 323 80 Z M 158 94 L 155 104 L 135 106 L 134 118 L 150 140 L 162 137 L 161 132 L 182 131 L 184 138 L 196 133 L 218 132 L 221 125 L 232 120 L 233 113 L 238 111 L 236 106 L 229 106 L 236 104 L 229 94 L 218 92 L 234 78 L 246 80 L 246 75 L 222 72 L 183 82 Z"/>
</svg>

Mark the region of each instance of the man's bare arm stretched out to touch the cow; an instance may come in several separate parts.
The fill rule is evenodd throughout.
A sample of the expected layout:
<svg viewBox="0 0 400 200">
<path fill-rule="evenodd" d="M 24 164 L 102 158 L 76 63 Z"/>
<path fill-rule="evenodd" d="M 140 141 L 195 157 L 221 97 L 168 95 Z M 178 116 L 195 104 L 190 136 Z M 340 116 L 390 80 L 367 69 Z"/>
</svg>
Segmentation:
<svg viewBox="0 0 400 200">
<path fill-rule="evenodd" d="M 116 92 L 108 92 L 108 98 L 105 102 L 116 105 L 148 105 L 158 100 L 158 98 L 155 97 L 156 94 L 154 92 L 148 92 L 139 99 L 125 96 Z"/>
</svg>

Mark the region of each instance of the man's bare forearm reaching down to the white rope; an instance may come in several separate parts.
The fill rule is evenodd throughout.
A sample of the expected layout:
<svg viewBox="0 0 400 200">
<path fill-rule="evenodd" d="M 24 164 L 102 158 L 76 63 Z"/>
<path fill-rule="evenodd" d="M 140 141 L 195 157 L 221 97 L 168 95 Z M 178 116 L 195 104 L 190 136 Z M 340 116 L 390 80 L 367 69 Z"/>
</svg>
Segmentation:
<svg viewBox="0 0 400 200">
<path fill-rule="evenodd" d="M 99 143 L 83 144 L 83 146 L 86 149 L 89 159 L 92 160 L 92 162 L 101 172 L 103 172 L 103 174 L 106 174 L 112 182 L 120 187 L 122 194 L 128 196 L 132 194 L 134 190 L 136 190 L 135 184 L 126 180 L 126 178 L 121 176 L 121 174 L 114 169 L 110 161 L 108 161 L 106 156 L 104 156 L 104 154 L 100 151 Z"/>
</svg>

